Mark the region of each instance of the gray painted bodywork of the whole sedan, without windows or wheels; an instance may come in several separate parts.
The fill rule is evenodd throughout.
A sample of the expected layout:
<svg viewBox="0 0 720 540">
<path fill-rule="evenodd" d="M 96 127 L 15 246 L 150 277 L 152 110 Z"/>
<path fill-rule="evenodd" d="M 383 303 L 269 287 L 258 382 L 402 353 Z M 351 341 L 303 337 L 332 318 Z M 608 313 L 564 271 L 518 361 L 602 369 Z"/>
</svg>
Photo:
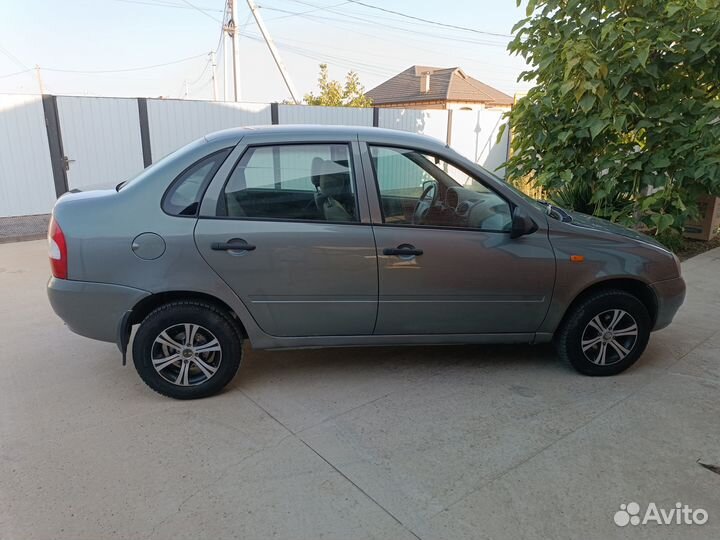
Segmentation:
<svg viewBox="0 0 720 540">
<path fill-rule="evenodd" d="M 312 142 L 350 145 L 360 223 L 218 218 L 220 193 L 248 146 Z M 408 147 L 457 164 L 521 206 L 538 230 L 510 239 L 507 233 L 382 225 L 367 143 Z M 199 217 L 164 213 L 160 201 L 173 179 L 225 148 L 232 150 L 206 190 Z M 63 196 L 53 214 L 69 252 L 69 279 L 48 284 L 53 308 L 72 330 L 106 341 L 116 341 L 127 310 L 165 292 L 202 293 L 224 302 L 256 348 L 302 348 L 546 341 L 578 294 L 616 278 L 644 283 L 662 296 L 660 328 L 672 320 L 685 290 L 664 248 L 591 222 L 548 219 L 524 196 L 440 141 L 377 128 L 273 126 L 217 132 L 161 160 L 120 191 Z M 134 239 L 143 233 L 163 239 L 160 256 L 142 259 L 133 251 Z M 252 240 L 262 251 L 236 256 L 209 249 L 212 242 L 235 237 Z M 420 247 L 435 257 L 423 255 L 412 262 L 415 267 L 428 279 L 440 279 L 443 272 L 451 279 L 446 276 L 443 284 L 423 293 L 416 290 L 420 282 L 387 276 L 399 262 L 382 256 L 382 248 L 408 237 L 423 242 Z M 457 265 L 467 262 L 464 253 L 470 254 L 471 265 L 459 271 Z M 585 256 L 583 263 L 570 262 L 577 253 Z M 404 289 L 393 290 L 398 287 Z M 415 298 L 408 299 L 411 295 Z M 456 319 L 450 316 L 453 310 Z M 414 315 L 417 327 L 403 321 Z M 428 331 L 433 322 L 437 325 Z"/>
</svg>

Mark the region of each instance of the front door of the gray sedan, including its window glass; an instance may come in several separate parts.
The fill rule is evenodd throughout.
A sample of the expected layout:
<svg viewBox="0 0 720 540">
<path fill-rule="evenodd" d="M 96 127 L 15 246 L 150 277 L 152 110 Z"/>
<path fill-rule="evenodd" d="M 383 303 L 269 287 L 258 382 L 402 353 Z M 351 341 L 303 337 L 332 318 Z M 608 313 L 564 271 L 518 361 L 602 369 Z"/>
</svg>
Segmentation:
<svg viewBox="0 0 720 540">
<path fill-rule="evenodd" d="M 382 212 L 375 333 L 535 332 L 555 279 L 544 228 L 511 239 L 513 205 L 446 160 L 372 145 L 369 155 Z"/>
</svg>

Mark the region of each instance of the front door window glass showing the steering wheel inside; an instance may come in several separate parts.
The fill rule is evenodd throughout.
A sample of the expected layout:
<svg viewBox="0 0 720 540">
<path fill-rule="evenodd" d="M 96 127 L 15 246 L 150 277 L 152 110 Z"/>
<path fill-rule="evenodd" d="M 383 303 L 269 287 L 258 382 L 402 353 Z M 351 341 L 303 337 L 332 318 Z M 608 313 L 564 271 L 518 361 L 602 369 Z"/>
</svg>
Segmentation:
<svg viewBox="0 0 720 540">
<path fill-rule="evenodd" d="M 371 146 L 370 156 L 384 223 L 510 231 L 510 204 L 452 163 L 382 146 Z"/>
</svg>

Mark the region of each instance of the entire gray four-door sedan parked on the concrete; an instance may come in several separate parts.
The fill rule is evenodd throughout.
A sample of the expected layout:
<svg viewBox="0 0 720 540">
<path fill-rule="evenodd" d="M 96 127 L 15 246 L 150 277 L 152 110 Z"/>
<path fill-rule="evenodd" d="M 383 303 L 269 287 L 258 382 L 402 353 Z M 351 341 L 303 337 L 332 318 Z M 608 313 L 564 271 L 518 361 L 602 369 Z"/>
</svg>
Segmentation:
<svg viewBox="0 0 720 540">
<path fill-rule="evenodd" d="M 70 193 L 48 295 L 161 394 L 221 390 L 260 349 L 543 343 L 632 365 L 685 297 L 651 238 L 528 198 L 439 141 L 273 126 L 195 141 L 116 189 Z"/>
</svg>

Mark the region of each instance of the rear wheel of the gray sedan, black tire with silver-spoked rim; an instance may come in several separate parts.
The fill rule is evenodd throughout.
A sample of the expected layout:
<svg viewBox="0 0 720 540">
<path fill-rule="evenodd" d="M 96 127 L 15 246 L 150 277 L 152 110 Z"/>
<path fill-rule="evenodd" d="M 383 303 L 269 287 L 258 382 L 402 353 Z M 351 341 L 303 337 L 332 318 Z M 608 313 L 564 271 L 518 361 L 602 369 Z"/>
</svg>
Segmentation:
<svg viewBox="0 0 720 540">
<path fill-rule="evenodd" d="M 196 328 L 197 335 L 192 330 L 191 333 L 198 350 L 211 346 L 212 352 L 194 353 L 194 348 L 184 345 L 186 334 L 182 328 L 188 328 L 186 324 L 192 325 L 189 328 Z M 166 341 L 156 341 L 166 330 L 166 335 L 172 334 L 171 337 L 175 338 L 173 343 L 183 345 L 182 350 L 164 345 Z M 217 340 L 218 346 L 213 345 L 212 338 Z M 159 347 L 166 352 L 162 353 Z M 172 352 L 176 349 L 177 354 Z M 198 399 L 218 393 L 235 376 L 242 357 L 242 336 L 232 317 L 216 306 L 177 301 L 164 304 L 145 317 L 135 334 L 132 351 L 135 369 L 150 388 L 174 399 Z M 157 370 L 153 357 L 160 363 L 159 353 L 167 354 L 168 360 L 171 356 L 179 358 L 174 362 L 163 362 L 166 367 Z M 191 353 L 195 355 L 190 360 L 183 356 Z M 202 369 L 201 365 L 204 366 Z M 178 380 L 184 376 L 186 385 L 182 385 L 183 381 L 176 384 L 168 380 L 173 379 L 175 374 Z"/>
</svg>

